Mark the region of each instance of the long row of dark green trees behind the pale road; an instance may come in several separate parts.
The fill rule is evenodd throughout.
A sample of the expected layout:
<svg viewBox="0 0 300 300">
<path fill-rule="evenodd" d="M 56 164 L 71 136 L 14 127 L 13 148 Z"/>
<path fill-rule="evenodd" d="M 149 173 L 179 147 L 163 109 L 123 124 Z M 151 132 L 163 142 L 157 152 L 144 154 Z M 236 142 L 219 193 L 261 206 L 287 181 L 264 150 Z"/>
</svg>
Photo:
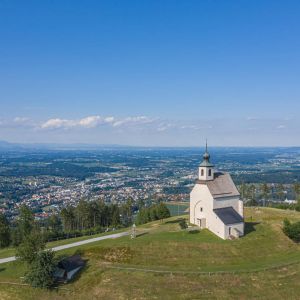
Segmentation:
<svg viewBox="0 0 300 300">
<path fill-rule="evenodd" d="M 0 248 L 10 244 L 18 246 L 34 228 L 38 228 L 46 240 L 51 240 L 101 232 L 112 227 L 128 227 L 132 222 L 131 200 L 120 206 L 81 200 L 77 206 L 67 206 L 59 214 L 43 221 L 36 221 L 33 212 L 23 205 L 17 220 L 11 223 L 4 214 L 0 214 Z"/>
</svg>

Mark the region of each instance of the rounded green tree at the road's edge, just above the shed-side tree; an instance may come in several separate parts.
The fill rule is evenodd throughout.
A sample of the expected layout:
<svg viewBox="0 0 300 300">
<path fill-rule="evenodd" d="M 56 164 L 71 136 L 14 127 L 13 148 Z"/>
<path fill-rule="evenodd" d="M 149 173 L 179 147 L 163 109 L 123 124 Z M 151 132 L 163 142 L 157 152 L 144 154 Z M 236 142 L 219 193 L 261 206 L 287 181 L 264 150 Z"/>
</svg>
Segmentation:
<svg viewBox="0 0 300 300">
<path fill-rule="evenodd" d="M 23 262 L 31 264 L 37 253 L 45 249 L 44 236 L 37 231 L 32 231 L 17 247 L 16 257 Z"/>
</svg>

